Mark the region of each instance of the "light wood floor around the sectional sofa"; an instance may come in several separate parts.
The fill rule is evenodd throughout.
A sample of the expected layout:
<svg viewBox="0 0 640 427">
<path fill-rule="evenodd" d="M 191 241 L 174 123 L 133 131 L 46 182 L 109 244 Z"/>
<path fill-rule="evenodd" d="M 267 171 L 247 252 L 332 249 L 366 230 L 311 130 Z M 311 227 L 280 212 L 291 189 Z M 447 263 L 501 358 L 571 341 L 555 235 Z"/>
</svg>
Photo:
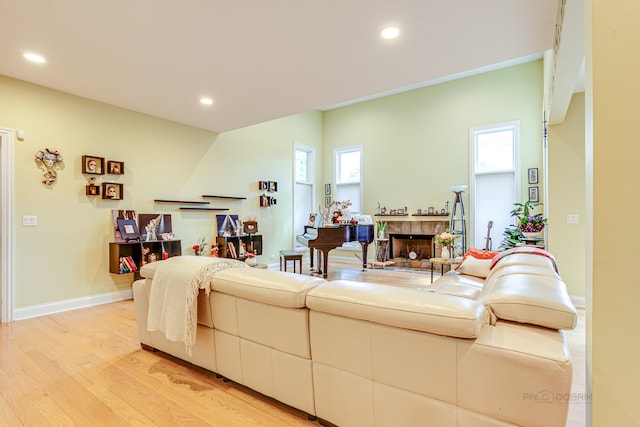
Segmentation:
<svg viewBox="0 0 640 427">
<path fill-rule="evenodd" d="M 307 272 L 305 266 L 305 273 Z M 398 286 L 429 274 L 330 266 L 329 279 Z M 567 334 L 584 393 L 584 312 Z M 142 350 L 133 301 L 0 325 L 0 426 L 313 426 L 306 414 L 162 353 Z M 584 426 L 584 402 L 568 426 Z"/>
</svg>

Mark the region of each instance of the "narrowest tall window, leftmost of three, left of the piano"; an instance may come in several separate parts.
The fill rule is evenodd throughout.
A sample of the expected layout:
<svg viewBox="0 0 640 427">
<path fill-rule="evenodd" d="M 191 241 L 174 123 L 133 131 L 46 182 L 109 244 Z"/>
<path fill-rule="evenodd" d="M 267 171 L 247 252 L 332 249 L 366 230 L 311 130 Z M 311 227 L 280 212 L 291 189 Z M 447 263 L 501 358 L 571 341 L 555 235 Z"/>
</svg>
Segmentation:
<svg viewBox="0 0 640 427">
<path fill-rule="evenodd" d="M 314 212 L 315 151 L 311 147 L 295 144 L 294 147 L 294 189 L 293 189 L 293 243 L 295 236 L 304 232 L 309 214 Z M 317 210 L 317 207 L 315 208 Z"/>
</svg>

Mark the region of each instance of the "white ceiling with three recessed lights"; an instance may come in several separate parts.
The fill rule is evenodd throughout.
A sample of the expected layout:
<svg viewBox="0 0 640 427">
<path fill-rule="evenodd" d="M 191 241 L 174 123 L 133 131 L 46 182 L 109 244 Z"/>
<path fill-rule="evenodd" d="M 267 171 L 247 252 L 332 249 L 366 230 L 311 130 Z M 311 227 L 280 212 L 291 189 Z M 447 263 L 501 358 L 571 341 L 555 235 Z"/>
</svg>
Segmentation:
<svg viewBox="0 0 640 427">
<path fill-rule="evenodd" d="M 540 56 L 553 47 L 557 6 L 0 0 L 0 74 L 224 132 Z M 400 37 L 382 40 L 387 25 Z M 201 96 L 214 105 L 200 105 Z"/>
</svg>

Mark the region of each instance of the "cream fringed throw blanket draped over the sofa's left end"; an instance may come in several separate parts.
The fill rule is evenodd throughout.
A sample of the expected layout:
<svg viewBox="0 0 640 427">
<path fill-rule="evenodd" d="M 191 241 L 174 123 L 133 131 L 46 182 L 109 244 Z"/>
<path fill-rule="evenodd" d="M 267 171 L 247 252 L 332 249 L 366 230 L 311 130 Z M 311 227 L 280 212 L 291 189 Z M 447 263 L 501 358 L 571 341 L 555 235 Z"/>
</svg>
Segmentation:
<svg viewBox="0 0 640 427">
<path fill-rule="evenodd" d="M 168 340 L 184 342 L 191 356 L 196 342 L 198 292 L 204 289 L 209 295 L 213 275 L 233 267 L 247 265 L 233 259 L 200 256 L 162 261 L 151 285 L 147 329 L 164 332 Z"/>
</svg>

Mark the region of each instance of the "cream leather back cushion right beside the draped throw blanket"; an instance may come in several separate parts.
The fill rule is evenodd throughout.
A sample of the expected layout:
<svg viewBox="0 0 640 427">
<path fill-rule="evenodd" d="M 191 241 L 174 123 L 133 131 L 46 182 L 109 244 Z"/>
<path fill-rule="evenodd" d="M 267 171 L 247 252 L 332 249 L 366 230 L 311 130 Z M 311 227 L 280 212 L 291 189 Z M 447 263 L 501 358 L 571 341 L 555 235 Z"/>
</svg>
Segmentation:
<svg viewBox="0 0 640 427">
<path fill-rule="evenodd" d="M 305 307 L 306 295 L 326 283 L 318 277 L 259 268 L 230 268 L 218 272 L 211 289 L 251 301 L 279 307 Z"/>
</svg>

